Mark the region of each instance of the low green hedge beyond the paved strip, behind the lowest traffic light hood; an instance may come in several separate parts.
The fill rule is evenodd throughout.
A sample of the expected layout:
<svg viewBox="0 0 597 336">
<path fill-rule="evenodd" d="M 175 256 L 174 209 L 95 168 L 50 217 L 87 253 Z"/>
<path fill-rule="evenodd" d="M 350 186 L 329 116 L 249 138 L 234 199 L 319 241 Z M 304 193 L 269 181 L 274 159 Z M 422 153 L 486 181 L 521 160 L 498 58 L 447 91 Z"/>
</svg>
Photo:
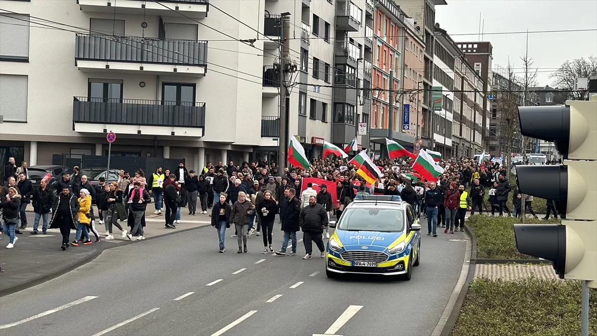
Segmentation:
<svg viewBox="0 0 597 336">
<path fill-rule="evenodd" d="M 559 221 L 551 219 L 543 221 L 536 218 L 525 218 L 525 224 L 555 224 Z M 466 225 L 475 233 L 477 239 L 477 258 L 480 259 L 537 259 L 534 256 L 521 254 L 516 249 L 514 224 L 521 224 L 522 218 L 493 217 L 473 215 L 466 219 Z"/>
</svg>

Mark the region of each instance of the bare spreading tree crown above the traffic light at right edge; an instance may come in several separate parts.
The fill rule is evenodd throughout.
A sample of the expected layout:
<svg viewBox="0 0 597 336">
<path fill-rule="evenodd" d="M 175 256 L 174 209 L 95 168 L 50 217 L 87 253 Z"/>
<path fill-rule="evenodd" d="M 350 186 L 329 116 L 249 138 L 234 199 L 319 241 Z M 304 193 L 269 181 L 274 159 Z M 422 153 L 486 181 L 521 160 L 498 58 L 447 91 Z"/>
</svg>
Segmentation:
<svg viewBox="0 0 597 336">
<path fill-rule="evenodd" d="M 588 59 L 580 57 L 572 61 L 567 60 L 558 70 L 549 75 L 549 78 L 553 78 L 552 85 L 555 87 L 558 87 L 560 90 L 569 91 L 564 93 L 566 99 L 587 100 L 589 99 L 588 91 L 570 91 L 575 90 L 577 78 L 588 78 L 591 76 L 597 76 L 597 57 L 595 56 L 589 56 Z"/>
</svg>

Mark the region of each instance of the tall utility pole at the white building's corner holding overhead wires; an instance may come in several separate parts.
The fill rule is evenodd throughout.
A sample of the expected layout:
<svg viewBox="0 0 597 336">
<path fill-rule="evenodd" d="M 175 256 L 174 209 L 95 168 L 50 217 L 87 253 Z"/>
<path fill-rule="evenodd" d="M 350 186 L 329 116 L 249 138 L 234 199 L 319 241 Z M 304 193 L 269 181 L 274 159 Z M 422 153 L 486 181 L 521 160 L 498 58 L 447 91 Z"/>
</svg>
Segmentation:
<svg viewBox="0 0 597 336">
<path fill-rule="evenodd" d="M 288 140 L 288 113 L 287 100 L 288 88 L 285 85 L 286 74 L 290 70 L 288 59 L 290 58 L 290 17 L 281 17 L 281 40 L 280 40 L 280 124 L 278 138 L 278 171 L 284 175 L 284 168 L 287 167 Z M 288 68 L 288 69 L 287 69 Z"/>
</svg>

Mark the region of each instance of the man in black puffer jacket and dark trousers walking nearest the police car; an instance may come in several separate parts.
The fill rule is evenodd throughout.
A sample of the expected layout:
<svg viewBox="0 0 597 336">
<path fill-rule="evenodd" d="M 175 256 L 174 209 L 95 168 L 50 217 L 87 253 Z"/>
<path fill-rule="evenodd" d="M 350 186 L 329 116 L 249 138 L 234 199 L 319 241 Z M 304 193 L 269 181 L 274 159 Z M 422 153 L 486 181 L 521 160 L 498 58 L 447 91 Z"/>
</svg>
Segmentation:
<svg viewBox="0 0 597 336">
<path fill-rule="evenodd" d="M 324 206 L 317 203 L 317 197 L 309 197 L 309 205 L 303 207 L 298 219 L 298 225 L 303 230 L 304 255 L 303 259 L 311 259 L 313 253 L 313 242 L 317 245 L 321 258 L 325 258 L 325 246 L 322 239 L 324 228 L 328 226 L 328 213 Z"/>
</svg>

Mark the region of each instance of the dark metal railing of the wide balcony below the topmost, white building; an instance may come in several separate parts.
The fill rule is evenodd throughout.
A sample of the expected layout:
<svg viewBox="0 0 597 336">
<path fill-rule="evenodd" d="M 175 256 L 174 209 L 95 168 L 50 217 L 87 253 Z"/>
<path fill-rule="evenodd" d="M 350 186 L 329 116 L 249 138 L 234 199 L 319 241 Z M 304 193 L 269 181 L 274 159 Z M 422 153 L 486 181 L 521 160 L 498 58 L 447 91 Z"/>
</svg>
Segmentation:
<svg viewBox="0 0 597 336">
<path fill-rule="evenodd" d="M 77 34 L 75 59 L 207 65 L 207 41 Z"/>
</svg>

